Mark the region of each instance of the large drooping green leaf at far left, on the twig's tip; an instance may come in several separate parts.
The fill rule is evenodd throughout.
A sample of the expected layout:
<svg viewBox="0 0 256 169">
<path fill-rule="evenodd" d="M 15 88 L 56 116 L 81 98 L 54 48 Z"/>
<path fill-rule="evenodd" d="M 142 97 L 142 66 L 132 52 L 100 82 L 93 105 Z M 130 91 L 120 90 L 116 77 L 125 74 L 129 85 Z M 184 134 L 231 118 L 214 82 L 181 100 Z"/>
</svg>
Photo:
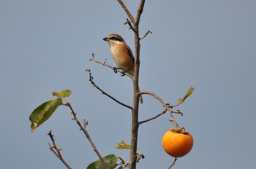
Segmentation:
<svg viewBox="0 0 256 169">
<path fill-rule="evenodd" d="M 50 118 L 54 111 L 62 103 L 62 98 L 56 98 L 55 100 L 42 103 L 37 109 L 30 114 L 29 120 L 31 121 L 31 131 L 33 132 L 39 125 L 42 125 L 46 120 Z"/>
</svg>

